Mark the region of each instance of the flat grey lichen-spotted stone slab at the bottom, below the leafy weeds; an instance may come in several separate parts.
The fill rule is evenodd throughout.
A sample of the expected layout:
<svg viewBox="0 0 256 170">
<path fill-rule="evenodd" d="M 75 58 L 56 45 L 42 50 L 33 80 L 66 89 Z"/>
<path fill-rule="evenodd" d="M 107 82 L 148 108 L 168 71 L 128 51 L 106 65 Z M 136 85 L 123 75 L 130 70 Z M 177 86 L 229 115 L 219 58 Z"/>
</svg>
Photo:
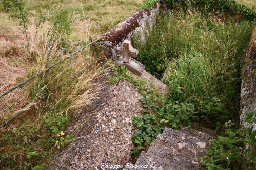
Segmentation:
<svg viewBox="0 0 256 170">
<path fill-rule="evenodd" d="M 194 126 L 195 127 L 195 126 Z M 195 127 L 198 130 L 182 128 L 174 130 L 165 128 L 162 134 L 151 143 L 148 151 L 142 152 L 135 165 L 148 165 L 148 168 L 125 168 L 130 169 L 161 169 L 161 170 L 192 170 L 201 169 L 199 158 L 204 156 L 208 140 L 214 138 L 208 133 L 213 131 Z M 150 165 L 155 163 L 154 168 Z"/>
</svg>

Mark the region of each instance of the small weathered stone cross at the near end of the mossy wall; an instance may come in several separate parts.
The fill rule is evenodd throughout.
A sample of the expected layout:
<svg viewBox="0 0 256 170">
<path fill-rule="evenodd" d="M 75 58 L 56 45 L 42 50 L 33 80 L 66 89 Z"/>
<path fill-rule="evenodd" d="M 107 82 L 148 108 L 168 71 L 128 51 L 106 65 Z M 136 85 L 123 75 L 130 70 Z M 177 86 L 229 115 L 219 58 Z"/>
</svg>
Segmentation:
<svg viewBox="0 0 256 170">
<path fill-rule="evenodd" d="M 139 50 L 131 46 L 131 41 L 124 40 L 122 46 L 116 48 L 116 53 L 123 57 L 124 63 L 130 63 L 131 58 L 137 57 Z"/>
</svg>

